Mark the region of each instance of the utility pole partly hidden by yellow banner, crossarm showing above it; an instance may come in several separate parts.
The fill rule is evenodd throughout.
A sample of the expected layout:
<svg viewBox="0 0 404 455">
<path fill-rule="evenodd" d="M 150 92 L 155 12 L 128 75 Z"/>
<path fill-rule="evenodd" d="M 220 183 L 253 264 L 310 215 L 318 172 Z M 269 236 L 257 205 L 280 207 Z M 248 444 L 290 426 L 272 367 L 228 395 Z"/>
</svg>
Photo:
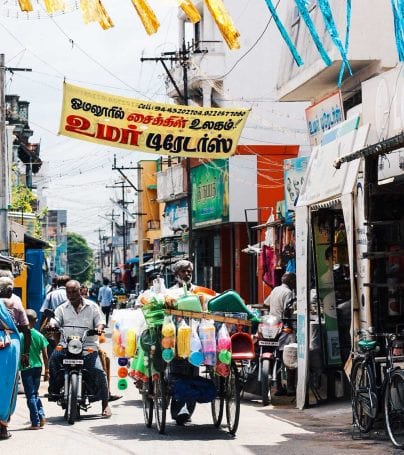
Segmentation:
<svg viewBox="0 0 404 455">
<path fill-rule="evenodd" d="M 173 84 L 175 90 L 177 91 L 179 97 L 182 99 L 182 104 L 188 106 L 189 104 L 189 94 L 188 94 L 188 65 L 190 62 L 191 50 L 186 47 L 185 40 L 182 41 L 182 48 L 177 52 L 163 52 L 161 57 L 150 57 L 140 59 L 141 62 L 144 61 L 153 61 L 160 62 L 164 70 L 167 73 L 168 78 Z M 179 89 L 177 83 L 172 77 L 170 70 L 167 68 L 166 61 L 169 62 L 179 62 L 182 66 L 182 82 L 183 82 L 183 91 Z M 191 187 L 191 161 L 189 158 L 186 158 L 186 173 L 187 173 L 187 205 L 188 205 L 188 257 L 191 262 L 193 255 L 193 239 L 192 239 L 192 187 Z M 139 209 L 139 211 L 141 211 Z M 140 256 L 139 256 L 140 258 Z"/>
</svg>

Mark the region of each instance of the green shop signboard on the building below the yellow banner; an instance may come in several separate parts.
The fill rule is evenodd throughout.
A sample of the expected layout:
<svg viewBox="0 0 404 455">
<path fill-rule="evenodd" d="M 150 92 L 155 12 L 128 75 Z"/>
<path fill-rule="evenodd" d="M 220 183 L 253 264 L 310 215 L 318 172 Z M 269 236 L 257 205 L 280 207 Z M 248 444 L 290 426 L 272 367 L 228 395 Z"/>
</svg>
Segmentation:
<svg viewBox="0 0 404 455">
<path fill-rule="evenodd" d="M 191 169 L 192 226 L 229 221 L 229 162 L 214 160 Z"/>
</svg>

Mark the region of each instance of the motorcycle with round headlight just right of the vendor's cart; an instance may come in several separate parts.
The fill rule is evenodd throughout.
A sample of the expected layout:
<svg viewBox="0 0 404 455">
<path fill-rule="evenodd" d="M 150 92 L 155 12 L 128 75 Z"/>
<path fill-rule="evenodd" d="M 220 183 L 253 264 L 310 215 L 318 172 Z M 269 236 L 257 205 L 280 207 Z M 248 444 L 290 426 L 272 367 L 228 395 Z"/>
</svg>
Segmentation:
<svg viewBox="0 0 404 455">
<path fill-rule="evenodd" d="M 286 377 L 280 346 L 282 339 L 293 332 L 288 321 L 273 315 L 262 316 L 254 335 L 255 358 L 242 365 L 243 391 L 261 395 L 264 406 L 271 403 L 271 387 L 277 379 Z"/>
</svg>

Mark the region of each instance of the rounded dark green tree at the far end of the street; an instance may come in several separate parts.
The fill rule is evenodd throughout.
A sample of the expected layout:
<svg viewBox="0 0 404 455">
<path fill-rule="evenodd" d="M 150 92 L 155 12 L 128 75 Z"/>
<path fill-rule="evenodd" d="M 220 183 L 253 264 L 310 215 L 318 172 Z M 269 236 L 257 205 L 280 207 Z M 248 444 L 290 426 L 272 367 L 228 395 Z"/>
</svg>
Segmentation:
<svg viewBox="0 0 404 455">
<path fill-rule="evenodd" d="M 73 280 L 80 283 L 91 281 L 94 273 L 93 250 L 80 234 L 67 233 L 67 262 Z"/>
</svg>

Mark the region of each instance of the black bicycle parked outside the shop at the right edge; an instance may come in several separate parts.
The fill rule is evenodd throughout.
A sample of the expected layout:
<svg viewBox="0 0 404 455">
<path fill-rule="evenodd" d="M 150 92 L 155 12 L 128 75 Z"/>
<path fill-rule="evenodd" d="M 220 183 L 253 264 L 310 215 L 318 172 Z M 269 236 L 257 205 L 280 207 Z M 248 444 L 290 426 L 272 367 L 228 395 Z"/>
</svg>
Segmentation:
<svg viewBox="0 0 404 455">
<path fill-rule="evenodd" d="M 384 422 L 393 445 L 404 448 L 404 371 L 394 366 L 392 355 L 393 333 L 373 333 L 372 329 L 360 330 L 366 335 L 358 342 L 361 351 L 351 372 L 352 412 L 354 424 L 362 433 L 369 433 L 380 408 L 383 406 Z M 368 337 L 367 335 L 370 335 Z M 384 339 L 385 363 L 383 379 L 378 381 L 375 354 L 380 346 L 375 338 Z"/>
</svg>

